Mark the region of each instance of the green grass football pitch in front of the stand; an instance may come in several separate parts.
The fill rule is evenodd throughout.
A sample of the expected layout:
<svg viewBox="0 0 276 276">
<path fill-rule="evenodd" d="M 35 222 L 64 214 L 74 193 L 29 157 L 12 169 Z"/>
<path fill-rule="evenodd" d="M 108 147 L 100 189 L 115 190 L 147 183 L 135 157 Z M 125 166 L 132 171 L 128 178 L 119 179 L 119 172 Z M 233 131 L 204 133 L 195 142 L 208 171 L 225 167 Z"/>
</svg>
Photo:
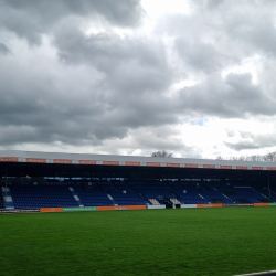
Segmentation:
<svg viewBox="0 0 276 276">
<path fill-rule="evenodd" d="M 276 208 L 0 215 L 0 275 L 276 269 Z"/>
</svg>

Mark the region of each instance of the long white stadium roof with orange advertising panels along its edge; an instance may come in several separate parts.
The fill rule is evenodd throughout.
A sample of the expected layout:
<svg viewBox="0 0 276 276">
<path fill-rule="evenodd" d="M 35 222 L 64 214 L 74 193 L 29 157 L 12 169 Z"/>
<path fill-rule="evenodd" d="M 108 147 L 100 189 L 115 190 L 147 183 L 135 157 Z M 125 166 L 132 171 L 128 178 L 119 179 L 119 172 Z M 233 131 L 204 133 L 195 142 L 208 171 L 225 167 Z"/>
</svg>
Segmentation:
<svg viewBox="0 0 276 276">
<path fill-rule="evenodd" d="M 276 170 L 274 162 L 0 150 L 0 162 Z"/>
</svg>

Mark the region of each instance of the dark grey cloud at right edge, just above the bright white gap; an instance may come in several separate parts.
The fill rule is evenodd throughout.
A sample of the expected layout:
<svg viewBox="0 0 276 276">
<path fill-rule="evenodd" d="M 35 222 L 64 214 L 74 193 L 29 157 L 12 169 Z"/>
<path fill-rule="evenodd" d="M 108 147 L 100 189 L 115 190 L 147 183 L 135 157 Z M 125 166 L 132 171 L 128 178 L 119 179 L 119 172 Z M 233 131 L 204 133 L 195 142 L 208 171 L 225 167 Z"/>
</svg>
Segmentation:
<svg viewBox="0 0 276 276">
<path fill-rule="evenodd" d="M 181 105 L 191 113 L 221 117 L 274 115 L 275 103 L 250 74 L 230 74 L 225 79 L 211 76 L 205 82 L 180 92 Z"/>
</svg>

